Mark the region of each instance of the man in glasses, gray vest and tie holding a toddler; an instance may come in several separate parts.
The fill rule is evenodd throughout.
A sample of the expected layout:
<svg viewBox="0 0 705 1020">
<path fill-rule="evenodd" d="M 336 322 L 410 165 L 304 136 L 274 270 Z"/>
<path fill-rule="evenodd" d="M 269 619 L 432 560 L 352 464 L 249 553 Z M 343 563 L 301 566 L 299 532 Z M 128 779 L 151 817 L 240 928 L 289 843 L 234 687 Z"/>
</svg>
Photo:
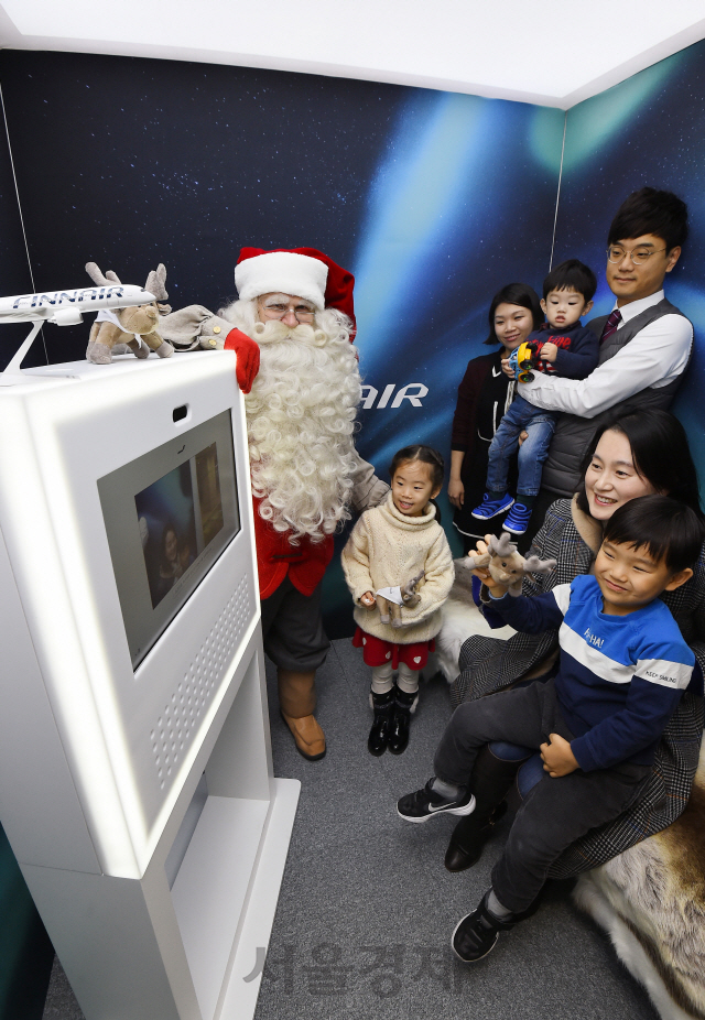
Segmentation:
<svg viewBox="0 0 705 1020">
<path fill-rule="evenodd" d="M 688 362 L 693 326 L 663 294 L 663 280 L 687 236 L 687 206 L 671 192 L 642 187 L 619 207 L 607 239 L 610 315 L 588 323 L 600 337 L 597 368 L 585 379 L 536 372 L 519 383 L 521 395 L 563 412 L 543 468 L 530 534 L 549 504 L 572 496 L 581 464 L 601 423 L 616 411 L 666 409 Z"/>
</svg>

